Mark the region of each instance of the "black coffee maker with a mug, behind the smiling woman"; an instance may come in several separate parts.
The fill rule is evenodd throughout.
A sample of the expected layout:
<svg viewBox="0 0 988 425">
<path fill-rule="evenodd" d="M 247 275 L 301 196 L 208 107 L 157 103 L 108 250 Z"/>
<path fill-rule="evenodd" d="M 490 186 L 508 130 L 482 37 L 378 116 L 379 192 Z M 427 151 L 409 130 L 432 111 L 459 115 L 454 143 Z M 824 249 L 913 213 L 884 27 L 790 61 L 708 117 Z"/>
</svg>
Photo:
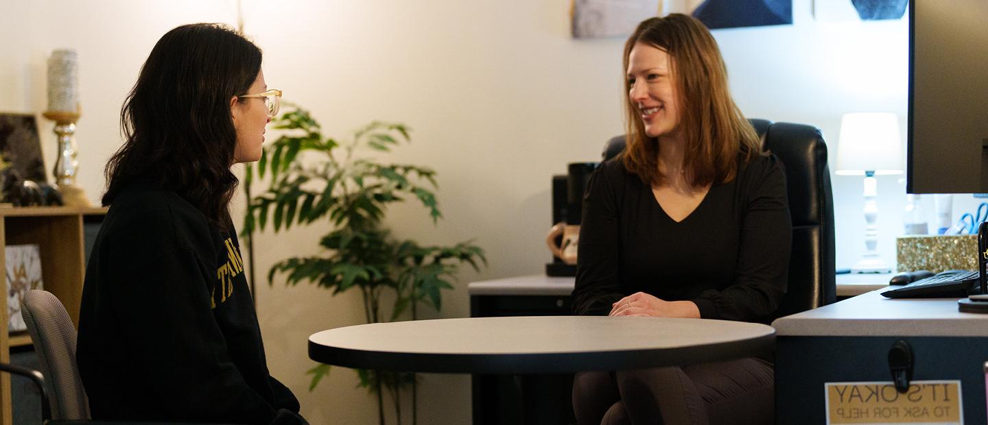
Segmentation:
<svg viewBox="0 0 988 425">
<path fill-rule="evenodd" d="M 590 175 L 600 163 L 571 163 L 565 176 L 552 176 L 552 228 L 545 244 L 552 262 L 545 264 L 548 276 L 576 276 L 583 195 Z"/>
</svg>

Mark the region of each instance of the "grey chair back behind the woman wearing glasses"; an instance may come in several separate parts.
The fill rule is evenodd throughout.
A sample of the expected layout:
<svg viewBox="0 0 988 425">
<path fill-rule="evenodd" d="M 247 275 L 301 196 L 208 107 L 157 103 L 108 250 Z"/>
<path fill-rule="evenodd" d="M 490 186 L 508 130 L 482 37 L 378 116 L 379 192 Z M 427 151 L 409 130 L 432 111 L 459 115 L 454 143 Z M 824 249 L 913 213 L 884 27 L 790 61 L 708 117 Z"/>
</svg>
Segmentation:
<svg viewBox="0 0 988 425">
<path fill-rule="evenodd" d="M 89 419 L 89 400 L 75 363 L 76 330 L 65 307 L 47 291 L 31 290 L 21 309 L 41 360 L 52 419 Z"/>
</svg>

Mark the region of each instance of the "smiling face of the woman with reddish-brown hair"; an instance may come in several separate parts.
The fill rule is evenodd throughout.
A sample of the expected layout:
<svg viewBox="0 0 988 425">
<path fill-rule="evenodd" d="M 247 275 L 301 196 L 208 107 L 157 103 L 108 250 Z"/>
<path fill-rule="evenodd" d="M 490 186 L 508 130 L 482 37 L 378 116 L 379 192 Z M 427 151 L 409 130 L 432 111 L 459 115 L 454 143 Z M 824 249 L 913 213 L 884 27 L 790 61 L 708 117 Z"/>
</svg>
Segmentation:
<svg viewBox="0 0 988 425">
<path fill-rule="evenodd" d="M 642 42 L 636 42 L 628 54 L 628 100 L 637 108 L 649 137 L 676 137 L 679 132 L 671 60 L 665 50 Z"/>
</svg>

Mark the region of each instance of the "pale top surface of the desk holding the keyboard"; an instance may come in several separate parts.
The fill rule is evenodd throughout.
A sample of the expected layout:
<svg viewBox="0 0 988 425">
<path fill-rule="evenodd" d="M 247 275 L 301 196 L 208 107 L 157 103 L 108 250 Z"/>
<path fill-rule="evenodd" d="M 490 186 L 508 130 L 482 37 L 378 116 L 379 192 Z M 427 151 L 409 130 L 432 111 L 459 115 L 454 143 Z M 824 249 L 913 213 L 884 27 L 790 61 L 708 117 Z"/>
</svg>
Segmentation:
<svg viewBox="0 0 988 425">
<path fill-rule="evenodd" d="M 776 319 L 779 336 L 988 336 L 988 315 L 956 298 L 887 299 L 881 290 Z"/>
</svg>

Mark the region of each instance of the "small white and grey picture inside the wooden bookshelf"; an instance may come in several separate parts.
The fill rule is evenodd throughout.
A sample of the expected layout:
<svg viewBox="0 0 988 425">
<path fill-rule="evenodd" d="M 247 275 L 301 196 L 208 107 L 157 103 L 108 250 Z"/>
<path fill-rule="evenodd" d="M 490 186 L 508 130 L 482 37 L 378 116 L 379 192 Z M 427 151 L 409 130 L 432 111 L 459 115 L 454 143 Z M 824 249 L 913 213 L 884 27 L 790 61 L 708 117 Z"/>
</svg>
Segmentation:
<svg viewBox="0 0 988 425">
<path fill-rule="evenodd" d="M 7 330 L 27 330 L 21 316 L 21 302 L 32 289 L 43 289 L 41 279 L 41 249 L 37 245 L 4 247 L 7 273 Z"/>
</svg>

